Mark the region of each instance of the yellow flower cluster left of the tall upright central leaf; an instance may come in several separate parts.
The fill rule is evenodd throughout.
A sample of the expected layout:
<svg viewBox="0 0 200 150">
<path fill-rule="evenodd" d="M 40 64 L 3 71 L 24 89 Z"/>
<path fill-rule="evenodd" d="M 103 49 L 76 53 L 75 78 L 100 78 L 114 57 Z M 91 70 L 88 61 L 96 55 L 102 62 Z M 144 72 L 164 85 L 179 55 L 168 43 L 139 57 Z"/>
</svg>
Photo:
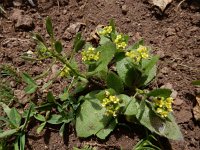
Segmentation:
<svg viewBox="0 0 200 150">
<path fill-rule="evenodd" d="M 100 52 L 95 51 L 95 48 L 89 47 L 87 50 L 81 52 L 83 61 L 97 61 L 99 59 Z"/>
</svg>

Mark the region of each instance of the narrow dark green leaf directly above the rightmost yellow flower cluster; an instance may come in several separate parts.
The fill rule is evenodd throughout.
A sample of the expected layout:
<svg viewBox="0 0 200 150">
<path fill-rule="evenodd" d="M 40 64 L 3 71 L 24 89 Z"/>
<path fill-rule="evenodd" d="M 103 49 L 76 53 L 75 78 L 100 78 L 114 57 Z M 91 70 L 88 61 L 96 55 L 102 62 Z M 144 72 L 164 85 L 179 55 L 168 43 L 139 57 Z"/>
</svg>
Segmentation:
<svg viewBox="0 0 200 150">
<path fill-rule="evenodd" d="M 171 93 L 172 91 L 170 89 L 155 89 L 149 92 L 147 96 L 168 98 L 170 97 Z"/>
</svg>

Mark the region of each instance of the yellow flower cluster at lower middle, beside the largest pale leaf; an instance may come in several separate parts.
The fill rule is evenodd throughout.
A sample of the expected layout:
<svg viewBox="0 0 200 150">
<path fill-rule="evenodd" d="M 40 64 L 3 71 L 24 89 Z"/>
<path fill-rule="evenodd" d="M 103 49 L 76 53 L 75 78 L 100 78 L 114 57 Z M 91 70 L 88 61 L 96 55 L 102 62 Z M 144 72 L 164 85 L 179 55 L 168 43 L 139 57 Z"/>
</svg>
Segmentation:
<svg viewBox="0 0 200 150">
<path fill-rule="evenodd" d="M 106 92 L 106 97 L 102 100 L 102 107 L 106 108 L 106 114 L 112 115 L 113 117 L 117 116 L 117 112 L 120 108 L 120 99 L 114 95 L 111 95 L 110 92 Z"/>
</svg>

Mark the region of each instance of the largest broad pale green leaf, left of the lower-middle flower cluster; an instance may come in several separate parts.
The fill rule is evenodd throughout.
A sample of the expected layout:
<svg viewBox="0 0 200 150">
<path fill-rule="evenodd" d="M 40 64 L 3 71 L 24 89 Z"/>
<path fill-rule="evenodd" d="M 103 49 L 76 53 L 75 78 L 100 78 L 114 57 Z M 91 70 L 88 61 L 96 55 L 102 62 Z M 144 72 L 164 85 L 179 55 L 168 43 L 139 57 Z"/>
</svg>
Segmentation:
<svg viewBox="0 0 200 150">
<path fill-rule="evenodd" d="M 95 98 L 97 91 L 87 94 L 76 116 L 76 133 L 78 137 L 89 137 L 96 135 L 100 130 L 109 126 L 113 117 L 105 115 L 105 108 Z M 92 113 L 91 113 L 92 112 Z M 110 132 L 110 131 L 109 131 Z M 109 134 L 105 132 L 105 134 Z M 104 134 L 104 137 L 107 135 Z"/>
</svg>

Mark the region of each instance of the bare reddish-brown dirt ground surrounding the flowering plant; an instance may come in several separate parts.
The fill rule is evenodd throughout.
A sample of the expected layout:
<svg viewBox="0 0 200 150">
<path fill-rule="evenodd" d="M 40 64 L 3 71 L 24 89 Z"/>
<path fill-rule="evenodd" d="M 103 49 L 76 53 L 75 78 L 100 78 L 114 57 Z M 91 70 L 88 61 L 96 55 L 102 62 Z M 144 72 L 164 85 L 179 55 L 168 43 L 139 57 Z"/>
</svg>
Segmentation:
<svg viewBox="0 0 200 150">
<path fill-rule="evenodd" d="M 158 76 L 151 88 L 165 86 L 175 91 L 174 115 L 184 141 L 160 139 L 163 149 L 200 149 L 200 127 L 192 113 L 197 89 L 191 85 L 191 81 L 200 79 L 200 1 L 186 0 L 178 7 L 180 1 L 175 0 L 163 13 L 147 0 L 33 2 L 34 7 L 28 1 L 5 6 L 6 14 L 0 16 L 0 64 L 13 65 L 33 76 L 42 73 L 48 62 L 31 63 L 20 56 L 35 49 L 31 32 L 49 38 L 44 25 L 47 16 L 52 18 L 56 37 L 66 52 L 70 51 L 77 31 L 89 38 L 97 25 L 114 19 L 118 30 L 131 37 L 130 42 L 143 38 L 160 56 Z M 60 91 L 63 86 L 64 83 L 55 83 L 54 90 Z M 59 136 L 57 127 L 48 127 L 40 135 L 36 134 L 37 126 L 29 127 L 26 149 L 65 150 L 91 145 L 98 149 L 131 150 L 145 135 L 142 127 L 131 126 L 131 132 L 118 126 L 105 141 L 95 137 L 79 139 L 72 126 L 68 126 L 64 138 Z"/>
</svg>

